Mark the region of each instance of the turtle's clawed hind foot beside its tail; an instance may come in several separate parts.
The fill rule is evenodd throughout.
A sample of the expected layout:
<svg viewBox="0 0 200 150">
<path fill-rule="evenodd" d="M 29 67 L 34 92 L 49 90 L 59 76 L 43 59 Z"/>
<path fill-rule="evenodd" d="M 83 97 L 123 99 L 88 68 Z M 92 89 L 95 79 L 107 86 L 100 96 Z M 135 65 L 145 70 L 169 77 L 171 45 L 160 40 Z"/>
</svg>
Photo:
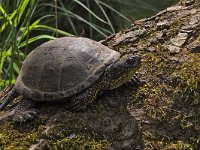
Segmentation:
<svg viewBox="0 0 200 150">
<path fill-rule="evenodd" d="M 35 102 L 23 98 L 15 108 L 13 121 L 16 123 L 22 123 L 28 120 L 33 120 L 36 116 L 37 112 L 35 109 Z"/>
</svg>

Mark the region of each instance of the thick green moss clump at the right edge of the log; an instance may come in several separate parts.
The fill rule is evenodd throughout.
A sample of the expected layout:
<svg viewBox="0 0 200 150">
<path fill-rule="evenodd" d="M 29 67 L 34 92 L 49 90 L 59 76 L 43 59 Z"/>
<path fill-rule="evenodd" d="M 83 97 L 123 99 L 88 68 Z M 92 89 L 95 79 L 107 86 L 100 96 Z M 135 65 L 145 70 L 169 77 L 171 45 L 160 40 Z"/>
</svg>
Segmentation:
<svg viewBox="0 0 200 150">
<path fill-rule="evenodd" d="M 173 73 L 176 87 L 182 91 L 181 98 L 191 105 L 200 104 L 200 54 L 186 52 L 187 61 Z M 177 91 L 174 92 L 177 94 Z"/>
</svg>

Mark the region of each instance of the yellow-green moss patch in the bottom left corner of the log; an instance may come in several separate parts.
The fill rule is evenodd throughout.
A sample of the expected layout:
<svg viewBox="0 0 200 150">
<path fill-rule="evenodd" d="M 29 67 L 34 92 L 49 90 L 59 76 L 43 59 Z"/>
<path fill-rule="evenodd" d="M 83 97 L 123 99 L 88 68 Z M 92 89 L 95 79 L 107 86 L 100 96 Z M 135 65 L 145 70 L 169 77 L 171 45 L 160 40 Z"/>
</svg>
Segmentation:
<svg viewBox="0 0 200 150">
<path fill-rule="evenodd" d="M 4 150 L 26 150 L 30 145 L 39 141 L 42 132 L 40 125 L 47 120 L 42 116 L 27 124 L 14 124 L 12 121 L 0 124 L 0 149 Z"/>
</svg>

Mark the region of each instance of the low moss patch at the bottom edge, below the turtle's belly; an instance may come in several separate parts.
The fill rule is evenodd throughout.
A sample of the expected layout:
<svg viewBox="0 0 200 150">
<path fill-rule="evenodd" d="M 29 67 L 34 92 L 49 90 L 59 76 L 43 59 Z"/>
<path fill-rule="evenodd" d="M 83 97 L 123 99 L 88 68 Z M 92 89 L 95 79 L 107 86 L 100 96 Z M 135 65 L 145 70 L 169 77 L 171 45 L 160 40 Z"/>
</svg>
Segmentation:
<svg viewBox="0 0 200 150">
<path fill-rule="evenodd" d="M 56 133 L 49 136 L 48 148 L 52 150 L 99 150 L 108 148 L 109 142 L 99 140 L 97 133 L 80 129 L 66 129 L 66 127 L 54 127 Z M 56 134 L 56 135 L 55 135 Z"/>
</svg>

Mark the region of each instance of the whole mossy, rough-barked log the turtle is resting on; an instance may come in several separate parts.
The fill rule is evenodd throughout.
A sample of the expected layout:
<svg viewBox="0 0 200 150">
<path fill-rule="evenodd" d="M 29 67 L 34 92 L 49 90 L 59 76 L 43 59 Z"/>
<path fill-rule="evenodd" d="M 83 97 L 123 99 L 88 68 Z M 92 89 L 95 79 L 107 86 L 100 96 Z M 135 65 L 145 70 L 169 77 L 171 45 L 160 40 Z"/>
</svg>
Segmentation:
<svg viewBox="0 0 200 150">
<path fill-rule="evenodd" d="M 12 112 L 4 112 L 0 148 L 199 150 L 199 33 L 199 0 L 182 0 L 135 21 L 101 42 L 124 57 L 142 57 L 141 85 L 107 92 L 84 113 L 40 103 L 36 121 L 14 125 L 8 117 Z"/>
</svg>

